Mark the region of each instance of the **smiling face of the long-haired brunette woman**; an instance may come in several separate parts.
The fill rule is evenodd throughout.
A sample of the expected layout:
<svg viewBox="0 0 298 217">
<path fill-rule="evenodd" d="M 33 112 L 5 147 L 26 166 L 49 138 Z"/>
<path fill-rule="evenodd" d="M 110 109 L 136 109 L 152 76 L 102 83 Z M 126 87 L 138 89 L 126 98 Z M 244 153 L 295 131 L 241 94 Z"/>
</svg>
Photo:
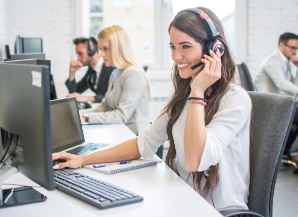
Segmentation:
<svg viewBox="0 0 298 217">
<path fill-rule="evenodd" d="M 203 58 L 203 46 L 184 32 L 172 27 L 170 30 L 170 48 L 172 50 L 172 59 L 179 70 L 181 78 L 192 80 L 200 72 L 203 66 L 194 70 L 190 67 L 201 62 Z"/>
</svg>

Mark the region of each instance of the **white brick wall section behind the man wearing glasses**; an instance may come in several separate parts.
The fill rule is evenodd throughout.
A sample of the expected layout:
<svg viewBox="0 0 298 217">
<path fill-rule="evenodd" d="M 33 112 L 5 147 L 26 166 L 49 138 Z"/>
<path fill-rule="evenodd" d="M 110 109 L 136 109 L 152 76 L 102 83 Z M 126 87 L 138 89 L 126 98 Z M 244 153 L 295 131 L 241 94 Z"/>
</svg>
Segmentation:
<svg viewBox="0 0 298 217">
<path fill-rule="evenodd" d="M 298 34 L 297 0 L 247 0 L 247 65 L 253 78 L 284 32 Z"/>
</svg>

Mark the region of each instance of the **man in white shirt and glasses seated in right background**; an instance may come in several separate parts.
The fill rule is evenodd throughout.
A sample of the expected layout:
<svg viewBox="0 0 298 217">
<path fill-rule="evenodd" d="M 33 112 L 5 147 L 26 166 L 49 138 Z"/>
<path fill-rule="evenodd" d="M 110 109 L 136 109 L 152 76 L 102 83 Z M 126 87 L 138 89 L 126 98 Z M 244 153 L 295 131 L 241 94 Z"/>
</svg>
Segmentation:
<svg viewBox="0 0 298 217">
<path fill-rule="evenodd" d="M 298 97 L 298 35 L 286 32 L 279 37 L 278 49 L 267 56 L 258 69 L 255 89 L 259 92 L 286 94 Z M 289 149 L 298 135 L 298 110 L 293 123 L 296 129 L 291 132 L 284 149 L 284 155 L 291 158 Z M 298 156 L 293 160 L 298 163 Z"/>
</svg>

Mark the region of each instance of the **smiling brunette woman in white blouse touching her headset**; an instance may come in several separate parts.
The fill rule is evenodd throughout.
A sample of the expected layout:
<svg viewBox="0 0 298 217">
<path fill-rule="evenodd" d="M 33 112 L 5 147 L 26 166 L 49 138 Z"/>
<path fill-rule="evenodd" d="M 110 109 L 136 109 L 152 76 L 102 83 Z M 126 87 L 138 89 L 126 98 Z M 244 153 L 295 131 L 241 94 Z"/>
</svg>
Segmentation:
<svg viewBox="0 0 298 217">
<path fill-rule="evenodd" d="M 250 182 L 251 99 L 234 84 L 235 63 L 221 22 L 206 8 L 179 12 L 169 27 L 175 62 L 174 94 L 138 137 L 90 155 L 53 155 L 76 168 L 152 158 L 170 141 L 167 165 L 216 209 L 247 209 Z"/>
</svg>

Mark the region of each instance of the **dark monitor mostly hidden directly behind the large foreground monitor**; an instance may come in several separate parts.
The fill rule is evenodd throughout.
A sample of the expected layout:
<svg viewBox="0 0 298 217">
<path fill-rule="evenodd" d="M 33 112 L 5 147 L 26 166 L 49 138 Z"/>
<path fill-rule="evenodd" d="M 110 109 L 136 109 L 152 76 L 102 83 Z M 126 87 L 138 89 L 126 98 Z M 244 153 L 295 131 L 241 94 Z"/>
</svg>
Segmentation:
<svg viewBox="0 0 298 217">
<path fill-rule="evenodd" d="M 49 69 L 49 99 L 57 99 L 56 88 L 54 84 L 53 75 L 51 74 L 51 61 L 50 60 L 37 60 L 37 59 L 29 59 L 29 60 L 15 60 L 12 61 L 11 59 L 4 60 L 3 63 L 9 64 L 29 64 L 29 65 L 43 65 L 48 66 Z"/>
</svg>

